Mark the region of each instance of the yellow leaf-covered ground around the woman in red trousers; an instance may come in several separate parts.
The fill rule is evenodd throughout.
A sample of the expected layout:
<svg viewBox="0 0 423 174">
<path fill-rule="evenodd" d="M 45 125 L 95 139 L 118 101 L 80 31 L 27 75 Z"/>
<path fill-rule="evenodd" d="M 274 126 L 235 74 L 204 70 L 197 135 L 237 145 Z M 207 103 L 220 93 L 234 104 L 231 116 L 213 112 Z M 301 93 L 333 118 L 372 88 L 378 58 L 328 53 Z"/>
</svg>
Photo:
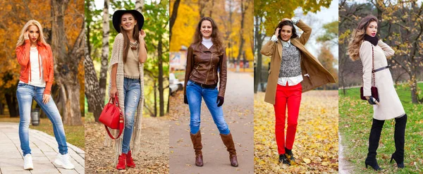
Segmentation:
<svg viewBox="0 0 423 174">
<path fill-rule="evenodd" d="M 274 134 L 274 106 L 255 94 L 255 173 L 338 173 L 338 94 L 311 91 L 302 94 L 293 147 L 296 165 L 278 162 Z"/>
</svg>

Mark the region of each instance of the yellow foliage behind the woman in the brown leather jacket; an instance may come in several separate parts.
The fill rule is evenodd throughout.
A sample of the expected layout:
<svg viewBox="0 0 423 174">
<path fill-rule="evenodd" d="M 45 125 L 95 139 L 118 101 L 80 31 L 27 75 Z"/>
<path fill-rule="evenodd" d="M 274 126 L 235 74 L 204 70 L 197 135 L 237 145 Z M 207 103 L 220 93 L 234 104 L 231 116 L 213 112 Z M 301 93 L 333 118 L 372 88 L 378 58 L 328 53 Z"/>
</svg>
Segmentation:
<svg viewBox="0 0 423 174">
<path fill-rule="evenodd" d="M 245 1 L 245 0 L 244 0 Z M 171 13 L 173 10 L 173 3 L 171 1 Z M 244 2 L 245 3 L 245 2 Z M 253 60 L 252 54 L 252 44 L 253 44 L 253 6 L 252 1 L 248 1 L 248 8 L 245 13 L 245 22 L 243 30 L 243 39 L 244 45 L 243 50 L 245 51 L 245 56 L 248 61 Z M 221 36 L 223 38 L 223 45 L 226 46 L 226 54 L 228 57 L 236 58 L 238 56 L 239 46 L 240 46 L 240 2 L 232 2 L 233 14 L 231 20 L 229 20 L 229 11 L 226 8 L 228 2 L 225 0 L 215 0 L 213 9 L 221 9 L 219 11 L 212 11 L 212 18 L 215 20 Z M 207 4 L 211 6 L 211 4 Z M 170 14 L 171 14 L 170 13 Z M 205 11 L 205 14 L 209 14 L 210 11 Z M 181 46 L 190 46 L 193 41 L 193 36 L 195 34 L 195 28 L 197 27 L 198 21 L 200 20 L 200 7 L 198 6 L 197 1 L 190 0 L 181 0 L 178 7 L 178 16 L 176 18 L 175 24 L 172 28 L 172 38 L 171 38 L 171 51 L 178 51 Z M 228 44 L 231 47 L 228 47 Z"/>
</svg>

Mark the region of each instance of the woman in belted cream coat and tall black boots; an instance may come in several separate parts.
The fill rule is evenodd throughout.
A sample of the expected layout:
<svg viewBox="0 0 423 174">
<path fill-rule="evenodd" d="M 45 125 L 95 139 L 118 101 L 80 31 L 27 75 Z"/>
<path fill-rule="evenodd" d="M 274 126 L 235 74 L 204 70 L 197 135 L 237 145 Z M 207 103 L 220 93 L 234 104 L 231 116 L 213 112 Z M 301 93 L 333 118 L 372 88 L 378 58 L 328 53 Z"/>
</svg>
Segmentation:
<svg viewBox="0 0 423 174">
<path fill-rule="evenodd" d="M 385 120 L 395 118 L 395 147 L 396 151 L 391 156 L 398 168 L 404 168 L 405 125 L 407 114 L 393 86 L 391 72 L 388 69 L 386 57 L 393 56 L 394 51 L 387 44 L 376 37 L 377 18 L 367 15 L 358 24 L 353 32 L 353 37 L 348 46 L 348 53 L 353 61 L 361 58 L 363 64 L 363 96 L 373 105 L 373 123 L 369 137 L 369 153 L 367 166 L 374 170 L 381 170 L 376 161 L 376 150 Z M 370 88 L 376 86 L 379 101 L 372 97 Z"/>
</svg>

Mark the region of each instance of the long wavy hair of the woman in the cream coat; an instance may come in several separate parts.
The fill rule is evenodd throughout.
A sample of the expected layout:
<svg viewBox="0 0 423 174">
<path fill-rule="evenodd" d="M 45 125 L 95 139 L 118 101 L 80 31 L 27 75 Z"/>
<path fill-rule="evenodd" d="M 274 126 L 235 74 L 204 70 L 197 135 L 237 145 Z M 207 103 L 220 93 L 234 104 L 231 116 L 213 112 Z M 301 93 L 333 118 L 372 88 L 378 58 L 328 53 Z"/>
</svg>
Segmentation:
<svg viewBox="0 0 423 174">
<path fill-rule="evenodd" d="M 360 58 L 360 46 L 364 39 L 364 34 L 366 33 L 367 27 L 372 22 L 377 23 L 377 18 L 374 15 L 367 15 L 366 17 L 360 20 L 357 27 L 353 31 L 351 36 L 350 43 L 348 44 L 348 54 L 350 55 L 351 60 L 357 61 Z"/>
</svg>

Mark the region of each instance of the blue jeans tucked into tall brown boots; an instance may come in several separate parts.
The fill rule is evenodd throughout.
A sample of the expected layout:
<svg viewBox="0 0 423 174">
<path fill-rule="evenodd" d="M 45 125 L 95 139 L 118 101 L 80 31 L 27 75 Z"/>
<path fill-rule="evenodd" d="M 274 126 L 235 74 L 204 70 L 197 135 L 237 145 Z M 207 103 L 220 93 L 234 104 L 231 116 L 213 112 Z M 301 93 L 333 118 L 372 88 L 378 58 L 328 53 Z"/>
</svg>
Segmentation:
<svg viewBox="0 0 423 174">
<path fill-rule="evenodd" d="M 191 115 L 190 132 L 196 134 L 198 130 L 200 130 L 201 98 L 203 98 L 207 108 L 209 108 L 210 113 L 212 113 L 212 118 L 219 132 L 223 135 L 228 135 L 230 130 L 226 124 L 225 118 L 223 118 L 222 107 L 218 107 L 216 104 L 217 94 L 219 93 L 217 87 L 214 89 L 203 88 L 191 80 L 188 80 L 186 91 Z"/>
</svg>

